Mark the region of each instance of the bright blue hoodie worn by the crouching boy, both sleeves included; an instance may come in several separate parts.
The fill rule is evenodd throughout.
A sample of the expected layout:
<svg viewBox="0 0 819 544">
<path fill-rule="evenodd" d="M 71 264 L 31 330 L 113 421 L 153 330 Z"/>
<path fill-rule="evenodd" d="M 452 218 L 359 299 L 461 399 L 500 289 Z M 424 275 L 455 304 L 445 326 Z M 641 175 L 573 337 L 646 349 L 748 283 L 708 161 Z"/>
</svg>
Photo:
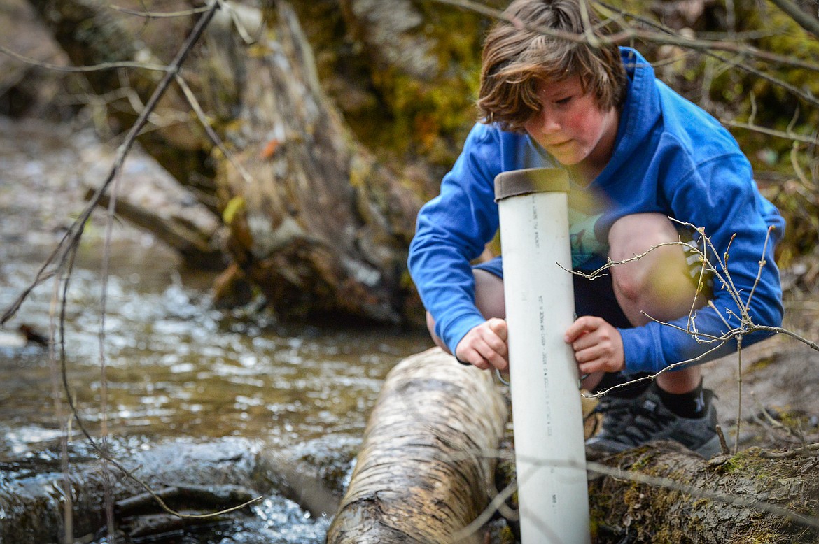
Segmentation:
<svg viewBox="0 0 819 544">
<path fill-rule="evenodd" d="M 574 268 L 590 271 L 605 263 L 609 228 L 618 218 L 665 214 L 704 227 L 719 259 L 730 245 L 727 271 L 743 306 L 753 292 L 748 308 L 751 321 L 780 326 L 781 286 L 773 250 L 784 233 L 784 219 L 759 194 L 751 165 L 731 133 L 656 79 L 640 53 L 622 47 L 621 54 L 628 92 L 612 158 L 588 187 L 572 187 L 569 196 Z M 468 330 L 485 321 L 475 307 L 470 261 L 498 229 L 495 176 L 515 169 L 559 166 L 527 134 L 476 124 L 441 182 L 441 194 L 420 210 L 409 246 L 409 272 L 436 321 L 437 335 L 452 353 Z M 775 227 L 769 239 L 768 227 Z M 765 264 L 760 273 L 763 248 Z M 708 254 L 717 264 L 717 257 Z M 717 272 L 726 277 L 718 265 Z M 740 323 L 738 303 L 718 277 L 714 291 L 717 309 L 703 308 L 695 315 L 701 339 L 747 325 Z M 735 351 L 733 340 L 717 349 L 717 344 L 698 341 L 686 332 L 687 321 L 686 316 L 671 326 L 649 322 L 619 329 L 626 371 L 656 372 L 709 350 L 698 362 Z M 768 335 L 757 331 L 744 336 L 743 344 Z"/>
</svg>

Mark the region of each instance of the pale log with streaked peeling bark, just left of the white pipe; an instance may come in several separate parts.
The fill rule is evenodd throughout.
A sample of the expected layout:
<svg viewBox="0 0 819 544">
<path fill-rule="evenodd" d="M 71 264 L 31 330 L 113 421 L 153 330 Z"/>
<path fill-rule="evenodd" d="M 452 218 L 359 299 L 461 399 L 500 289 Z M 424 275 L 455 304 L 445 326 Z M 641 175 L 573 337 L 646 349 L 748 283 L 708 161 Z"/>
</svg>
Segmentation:
<svg viewBox="0 0 819 544">
<path fill-rule="evenodd" d="M 488 504 L 506 416 L 489 372 L 438 348 L 400 362 L 373 408 L 328 543 L 452 542 Z"/>
</svg>

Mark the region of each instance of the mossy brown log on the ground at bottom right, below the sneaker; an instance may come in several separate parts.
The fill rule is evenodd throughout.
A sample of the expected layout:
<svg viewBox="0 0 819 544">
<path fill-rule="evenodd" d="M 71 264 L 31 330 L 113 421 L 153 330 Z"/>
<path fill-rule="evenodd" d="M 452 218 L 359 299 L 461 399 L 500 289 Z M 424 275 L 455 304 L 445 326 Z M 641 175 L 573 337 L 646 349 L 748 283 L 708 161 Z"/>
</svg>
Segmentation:
<svg viewBox="0 0 819 544">
<path fill-rule="evenodd" d="M 600 469 L 615 470 L 589 487 L 594 525 L 607 533 L 597 542 L 817 542 L 819 470 L 806 453 L 751 447 L 705 461 L 657 443 L 610 457 Z"/>
</svg>

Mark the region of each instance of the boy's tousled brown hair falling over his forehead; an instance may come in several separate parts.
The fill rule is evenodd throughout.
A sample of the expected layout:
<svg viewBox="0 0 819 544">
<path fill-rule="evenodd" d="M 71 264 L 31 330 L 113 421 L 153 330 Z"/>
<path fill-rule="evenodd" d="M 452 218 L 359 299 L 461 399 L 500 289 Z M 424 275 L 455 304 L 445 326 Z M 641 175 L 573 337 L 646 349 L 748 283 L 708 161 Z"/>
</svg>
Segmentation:
<svg viewBox="0 0 819 544">
<path fill-rule="evenodd" d="M 541 109 L 538 84 L 574 75 L 584 92 L 594 93 L 601 110 L 622 105 L 627 79 L 618 47 L 560 37 L 603 35 L 587 6 L 582 0 L 515 0 L 506 8 L 507 20 L 492 26 L 483 45 L 477 100 L 482 122 L 523 132 L 523 124 Z"/>
</svg>

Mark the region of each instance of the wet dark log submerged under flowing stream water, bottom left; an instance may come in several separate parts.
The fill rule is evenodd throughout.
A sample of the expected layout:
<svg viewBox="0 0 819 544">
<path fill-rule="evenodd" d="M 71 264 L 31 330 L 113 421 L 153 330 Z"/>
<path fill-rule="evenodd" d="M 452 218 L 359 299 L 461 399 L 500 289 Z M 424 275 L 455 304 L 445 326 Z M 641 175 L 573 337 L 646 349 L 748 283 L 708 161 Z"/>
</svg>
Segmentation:
<svg viewBox="0 0 819 544">
<path fill-rule="evenodd" d="M 78 447 L 70 452 L 67 474 L 52 452 L 0 462 L 0 542 L 64 542 L 66 528 L 77 542 L 89 542 L 106 531 L 106 495 L 114 505 L 117 542 L 215 521 L 245 523 L 255 518 L 250 508 L 218 517 L 179 517 L 161 509 L 156 497 L 177 512 L 203 515 L 259 497 L 280 496 L 319 519 L 323 512 L 335 510 L 341 494 L 341 486 L 326 471 L 337 471 L 335 464 L 346 467 L 352 456 L 351 447 L 342 445 L 317 466 L 311 444 L 305 444 L 303 451 L 277 452 L 246 438 L 179 441 L 117 455 L 139 483 L 111 464 L 103 470 L 95 452 L 87 452 L 82 443 Z M 71 501 L 70 521 L 66 497 Z"/>
</svg>

